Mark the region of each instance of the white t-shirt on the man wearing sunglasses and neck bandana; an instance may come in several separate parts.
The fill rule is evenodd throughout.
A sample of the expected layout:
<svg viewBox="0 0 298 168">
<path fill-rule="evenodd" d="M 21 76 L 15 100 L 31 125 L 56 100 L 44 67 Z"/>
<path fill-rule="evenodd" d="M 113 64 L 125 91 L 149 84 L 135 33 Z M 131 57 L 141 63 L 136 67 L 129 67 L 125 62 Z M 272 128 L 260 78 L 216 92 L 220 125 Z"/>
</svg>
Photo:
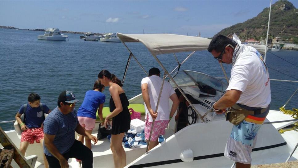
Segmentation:
<svg viewBox="0 0 298 168">
<path fill-rule="evenodd" d="M 238 51 L 240 54 L 231 69 L 231 78 L 226 90 L 242 91 L 237 103 L 249 107 L 266 108 L 271 102 L 268 69 L 261 54 L 255 48 L 241 44 L 239 41 L 236 39 L 241 46 Z"/>
</svg>

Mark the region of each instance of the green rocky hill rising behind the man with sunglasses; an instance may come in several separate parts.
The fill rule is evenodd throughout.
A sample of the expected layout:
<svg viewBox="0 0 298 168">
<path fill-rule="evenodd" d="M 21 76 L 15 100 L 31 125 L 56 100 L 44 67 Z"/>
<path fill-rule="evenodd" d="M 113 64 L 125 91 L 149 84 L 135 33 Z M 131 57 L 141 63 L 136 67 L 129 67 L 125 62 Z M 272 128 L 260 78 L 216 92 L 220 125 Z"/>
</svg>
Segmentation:
<svg viewBox="0 0 298 168">
<path fill-rule="evenodd" d="M 216 35 L 222 34 L 231 37 L 236 33 L 242 40 L 249 38 L 262 40 L 267 35 L 268 17 L 269 7 L 263 9 L 256 17 L 227 27 Z M 294 42 L 298 43 L 298 9 L 291 2 L 279 0 L 271 6 L 269 34 L 269 39 L 274 37 L 293 38 Z"/>
</svg>

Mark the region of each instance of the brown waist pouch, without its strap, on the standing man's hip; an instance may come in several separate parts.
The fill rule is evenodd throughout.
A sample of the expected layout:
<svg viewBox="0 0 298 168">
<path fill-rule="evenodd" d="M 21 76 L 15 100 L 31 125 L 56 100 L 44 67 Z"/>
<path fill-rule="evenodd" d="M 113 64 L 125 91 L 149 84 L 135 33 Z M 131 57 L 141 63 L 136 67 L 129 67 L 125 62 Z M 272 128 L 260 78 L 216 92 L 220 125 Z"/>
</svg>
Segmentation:
<svg viewBox="0 0 298 168">
<path fill-rule="evenodd" d="M 229 110 L 226 112 L 226 121 L 230 121 L 230 123 L 234 125 L 238 125 L 241 123 L 246 117 L 249 115 L 246 110 L 243 110 L 237 104 L 234 104 Z"/>
</svg>

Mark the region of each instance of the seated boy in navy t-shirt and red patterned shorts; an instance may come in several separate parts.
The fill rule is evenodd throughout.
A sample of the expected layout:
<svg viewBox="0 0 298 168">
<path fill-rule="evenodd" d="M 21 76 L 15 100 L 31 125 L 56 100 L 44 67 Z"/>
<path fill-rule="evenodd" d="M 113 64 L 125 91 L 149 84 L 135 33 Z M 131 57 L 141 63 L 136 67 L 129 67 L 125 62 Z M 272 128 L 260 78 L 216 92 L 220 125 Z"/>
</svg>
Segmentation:
<svg viewBox="0 0 298 168">
<path fill-rule="evenodd" d="M 47 105 L 40 103 L 40 96 L 35 93 L 31 93 L 28 96 L 28 103 L 23 104 L 17 114 L 15 119 L 21 126 L 22 138 L 20 144 L 20 151 L 25 156 L 26 150 L 29 144 L 41 142 L 43 144 L 43 121 L 45 120 L 44 113 L 49 114 L 51 110 Z M 20 118 L 24 114 L 24 123 Z M 48 162 L 45 156 L 44 166 L 48 168 Z"/>
</svg>

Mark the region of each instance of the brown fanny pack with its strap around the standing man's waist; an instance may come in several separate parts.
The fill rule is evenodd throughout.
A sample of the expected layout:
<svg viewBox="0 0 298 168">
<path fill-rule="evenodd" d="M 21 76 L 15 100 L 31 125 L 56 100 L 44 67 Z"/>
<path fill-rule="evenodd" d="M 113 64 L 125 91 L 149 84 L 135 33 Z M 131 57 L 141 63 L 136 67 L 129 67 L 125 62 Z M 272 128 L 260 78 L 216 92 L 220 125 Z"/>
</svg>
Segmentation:
<svg viewBox="0 0 298 168">
<path fill-rule="evenodd" d="M 258 109 L 258 110 L 247 110 L 243 107 L 240 107 L 238 104 L 234 104 L 230 107 L 226 112 L 226 121 L 230 121 L 230 123 L 234 125 L 238 125 L 241 123 L 247 115 L 258 115 L 266 112 L 269 106 L 266 108 Z"/>
</svg>

